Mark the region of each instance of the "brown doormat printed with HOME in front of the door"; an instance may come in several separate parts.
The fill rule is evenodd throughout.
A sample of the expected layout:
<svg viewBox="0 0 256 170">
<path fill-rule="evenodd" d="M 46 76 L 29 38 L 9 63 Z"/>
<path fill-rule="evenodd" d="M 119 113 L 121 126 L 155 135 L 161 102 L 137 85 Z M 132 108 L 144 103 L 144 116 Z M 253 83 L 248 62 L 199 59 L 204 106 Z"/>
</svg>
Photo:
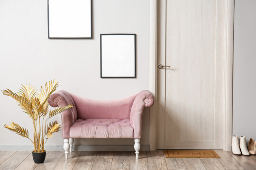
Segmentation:
<svg viewBox="0 0 256 170">
<path fill-rule="evenodd" d="M 212 150 L 165 150 L 166 158 L 220 158 Z"/>
</svg>

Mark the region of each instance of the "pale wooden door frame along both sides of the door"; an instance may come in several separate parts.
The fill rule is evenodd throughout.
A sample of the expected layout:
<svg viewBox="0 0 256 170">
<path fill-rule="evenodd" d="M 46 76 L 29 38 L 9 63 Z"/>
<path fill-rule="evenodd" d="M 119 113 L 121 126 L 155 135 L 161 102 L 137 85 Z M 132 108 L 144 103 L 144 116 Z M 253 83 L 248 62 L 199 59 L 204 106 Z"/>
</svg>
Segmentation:
<svg viewBox="0 0 256 170">
<path fill-rule="evenodd" d="M 150 150 L 157 149 L 157 106 L 159 97 L 157 95 L 157 8 L 159 1 L 150 0 L 150 81 L 149 90 L 155 96 L 155 104 L 150 108 L 149 115 L 149 144 Z M 216 104 L 215 109 L 222 113 L 222 149 L 231 150 L 232 143 L 232 104 L 233 104 L 233 32 L 234 32 L 234 0 L 216 0 L 217 5 L 217 32 L 216 41 L 219 48 L 216 55 L 219 58 L 219 77 L 217 94 L 220 101 Z M 165 10 L 165 9 L 164 9 Z M 217 83 L 216 83 L 217 84 Z"/>
</svg>

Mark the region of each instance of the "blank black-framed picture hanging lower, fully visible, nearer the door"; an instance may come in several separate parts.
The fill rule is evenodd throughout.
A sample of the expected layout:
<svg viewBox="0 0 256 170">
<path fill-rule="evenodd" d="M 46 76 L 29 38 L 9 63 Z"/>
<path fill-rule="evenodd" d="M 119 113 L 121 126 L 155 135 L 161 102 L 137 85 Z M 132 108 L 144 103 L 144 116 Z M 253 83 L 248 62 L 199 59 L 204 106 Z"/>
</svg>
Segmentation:
<svg viewBox="0 0 256 170">
<path fill-rule="evenodd" d="M 136 77 L 136 34 L 101 34 L 101 78 Z"/>
</svg>

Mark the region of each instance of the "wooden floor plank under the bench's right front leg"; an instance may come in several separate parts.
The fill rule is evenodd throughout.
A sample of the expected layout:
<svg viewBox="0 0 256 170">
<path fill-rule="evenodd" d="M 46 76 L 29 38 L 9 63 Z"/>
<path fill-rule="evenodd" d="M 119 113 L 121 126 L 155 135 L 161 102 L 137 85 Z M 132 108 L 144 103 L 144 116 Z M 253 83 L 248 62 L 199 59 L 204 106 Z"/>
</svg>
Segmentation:
<svg viewBox="0 0 256 170">
<path fill-rule="evenodd" d="M 139 159 L 136 159 L 135 152 L 130 153 L 130 170 L 148 170 L 146 151 L 139 153 Z"/>
</svg>

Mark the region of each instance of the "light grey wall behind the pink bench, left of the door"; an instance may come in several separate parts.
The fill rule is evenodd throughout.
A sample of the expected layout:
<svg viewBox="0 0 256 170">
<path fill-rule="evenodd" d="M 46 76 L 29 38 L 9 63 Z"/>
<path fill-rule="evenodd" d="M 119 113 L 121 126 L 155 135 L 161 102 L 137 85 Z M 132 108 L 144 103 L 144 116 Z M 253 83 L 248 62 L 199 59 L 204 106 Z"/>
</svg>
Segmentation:
<svg viewBox="0 0 256 170">
<path fill-rule="evenodd" d="M 137 78 L 100 78 L 100 34 L 137 34 Z M 123 98 L 149 89 L 149 0 L 93 0 L 93 39 L 47 39 L 47 0 L 0 0 L 0 89 L 17 91 L 30 83 L 39 90 L 57 79 L 57 90 L 91 99 Z M 60 115 L 56 116 L 61 122 Z M 31 145 L 5 129 L 32 121 L 10 97 L 0 94 L 0 145 Z M 149 113 L 143 117 L 141 144 L 149 144 Z M 4 136 L 4 137 L 3 137 Z M 62 145 L 61 133 L 47 145 Z M 134 144 L 133 139 L 80 139 L 75 144 Z"/>
</svg>

